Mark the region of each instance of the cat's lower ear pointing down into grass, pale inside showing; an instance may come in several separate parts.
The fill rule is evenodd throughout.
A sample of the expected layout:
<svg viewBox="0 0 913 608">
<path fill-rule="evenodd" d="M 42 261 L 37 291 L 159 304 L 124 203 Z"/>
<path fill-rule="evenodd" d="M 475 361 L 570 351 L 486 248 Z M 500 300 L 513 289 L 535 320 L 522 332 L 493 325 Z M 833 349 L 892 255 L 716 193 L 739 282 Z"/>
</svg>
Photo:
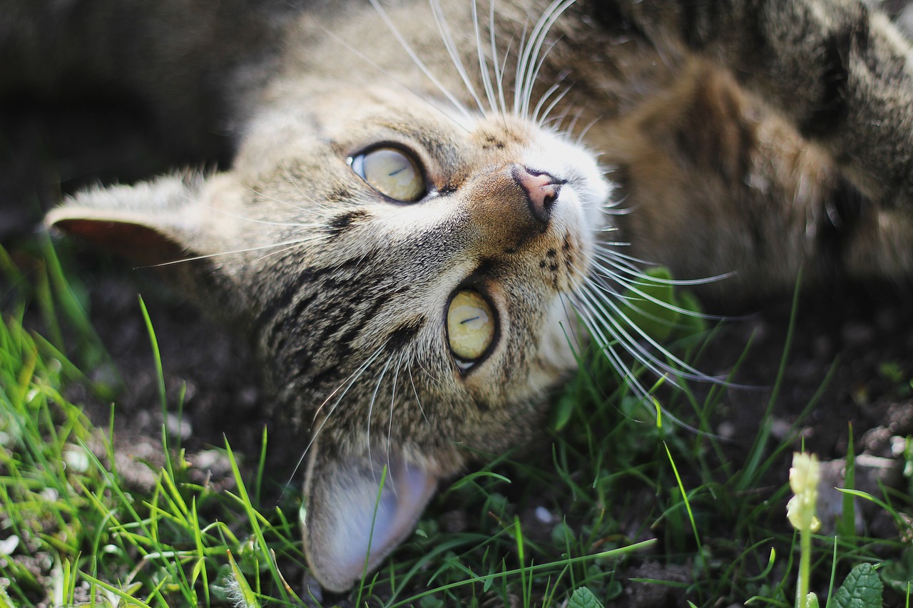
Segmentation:
<svg viewBox="0 0 913 608">
<path fill-rule="evenodd" d="M 344 592 L 415 529 L 437 477 L 407 462 L 399 450 L 339 455 L 321 449 L 319 439 L 311 450 L 304 487 L 305 551 L 320 585 Z"/>
</svg>

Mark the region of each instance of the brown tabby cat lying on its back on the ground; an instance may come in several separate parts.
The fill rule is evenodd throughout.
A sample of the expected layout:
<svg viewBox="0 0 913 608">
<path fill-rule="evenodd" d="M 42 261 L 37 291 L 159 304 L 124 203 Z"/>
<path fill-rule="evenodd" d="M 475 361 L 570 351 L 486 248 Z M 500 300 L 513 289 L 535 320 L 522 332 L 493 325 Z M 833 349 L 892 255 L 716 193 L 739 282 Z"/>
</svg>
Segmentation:
<svg viewBox="0 0 913 608">
<path fill-rule="evenodd" d="M 856 2 L 52 4 L 5 6 L 4 86 L 102 75 L 195 150 L 230 134 L 223 171 L 47 224 L 253 337 L 331 591 L 528 438 L 587 336 L 666 372 L 617 319 L 646 264 L 729 299 L 913 270 L 910 51 Z"/>
</svg>

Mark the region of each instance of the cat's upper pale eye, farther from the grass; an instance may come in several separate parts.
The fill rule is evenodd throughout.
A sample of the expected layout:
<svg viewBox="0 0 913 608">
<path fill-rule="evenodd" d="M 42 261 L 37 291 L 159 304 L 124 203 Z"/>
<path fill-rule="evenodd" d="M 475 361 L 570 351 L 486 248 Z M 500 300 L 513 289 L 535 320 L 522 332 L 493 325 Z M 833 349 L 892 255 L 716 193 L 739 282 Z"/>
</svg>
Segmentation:
<svg viewBox="0 0 913 608">
<path fill-rule="evenodd" d="M 425 177 L 410 154 L 396 148 L 375 148 L 349 160 L 352 171 L 377 192 L 395 201 L 414 203 L 425 195 Z"/>
</svg>

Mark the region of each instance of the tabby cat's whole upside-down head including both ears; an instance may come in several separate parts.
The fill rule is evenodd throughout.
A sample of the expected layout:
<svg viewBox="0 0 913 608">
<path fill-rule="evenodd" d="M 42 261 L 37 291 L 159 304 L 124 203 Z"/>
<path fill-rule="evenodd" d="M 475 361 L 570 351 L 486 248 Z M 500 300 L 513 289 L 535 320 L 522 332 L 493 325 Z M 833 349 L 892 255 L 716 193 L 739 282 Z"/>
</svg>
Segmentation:
<svg viewBox="0 0 913 608">
<path fill-rule="evenodd" d="M 538 426 L 608 198 L 591 155 L 527 121 L 334 87 L 257 117 L 230 173 L 82 194 L 51 221 L 148 233 L 234 299 L 309 458 L 311 566 L 345 589 L 438 479 Z"/>
</svg>

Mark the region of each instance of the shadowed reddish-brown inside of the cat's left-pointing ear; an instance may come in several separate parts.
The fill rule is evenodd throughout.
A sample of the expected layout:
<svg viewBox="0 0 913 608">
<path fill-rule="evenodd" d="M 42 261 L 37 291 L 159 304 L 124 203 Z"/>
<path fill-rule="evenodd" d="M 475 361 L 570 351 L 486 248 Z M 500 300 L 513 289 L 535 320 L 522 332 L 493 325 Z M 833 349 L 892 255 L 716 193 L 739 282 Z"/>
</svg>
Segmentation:
<svg viewBox="0 0 913 608">
<path fill-rule="evenodd" d="M 184 257 L 184 250 L 149 226 L 112 220 L 62 219 L 55 227 L 143 264 L 161 264 Z"/>
</svg>

